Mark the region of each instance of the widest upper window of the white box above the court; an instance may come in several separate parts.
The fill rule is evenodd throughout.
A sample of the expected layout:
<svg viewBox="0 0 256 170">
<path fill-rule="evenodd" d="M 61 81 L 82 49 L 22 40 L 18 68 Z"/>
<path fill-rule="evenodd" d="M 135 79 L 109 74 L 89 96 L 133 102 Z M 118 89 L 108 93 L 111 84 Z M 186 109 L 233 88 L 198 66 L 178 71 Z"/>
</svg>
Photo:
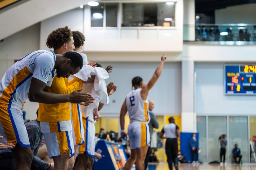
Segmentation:
<svg viewBox="0 0 256 170">
<path fill-rule="evenodd" d="M 175 26 L 175 3 L 123 3 L 122 26 Z"/>
</svg>

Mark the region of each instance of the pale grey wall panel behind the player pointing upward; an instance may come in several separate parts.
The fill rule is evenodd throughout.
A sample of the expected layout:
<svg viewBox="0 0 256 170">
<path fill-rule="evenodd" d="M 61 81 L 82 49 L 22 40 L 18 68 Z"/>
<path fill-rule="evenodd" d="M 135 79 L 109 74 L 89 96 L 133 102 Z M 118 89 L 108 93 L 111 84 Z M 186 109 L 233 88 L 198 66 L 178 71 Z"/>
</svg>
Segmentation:
<svg viewBox="0 0 256 170">
<path fill-rule="evenodd" d="M 159 58 L 160 59 L 160 58 Z M 110 81 L 115 82 L 117 91 L 110 96 L 110 103 L 100 111 L 104 114 L 120 114 L 120 108 L 126 95 L 131 91 L 131 79 L 141 76 L 144 83 L 152 77 L 157 63 L 100 63 L 103 68 L 113 65 L 113 72 L 109 73 Z M 150 90 L 148 98 L 155 103 L 155 114 L 181 113 L 181 63 L 165 63 L 163 72 L 155 86 Z M 115 103 L 113 103 L 115 100 Z"/>
</svg>

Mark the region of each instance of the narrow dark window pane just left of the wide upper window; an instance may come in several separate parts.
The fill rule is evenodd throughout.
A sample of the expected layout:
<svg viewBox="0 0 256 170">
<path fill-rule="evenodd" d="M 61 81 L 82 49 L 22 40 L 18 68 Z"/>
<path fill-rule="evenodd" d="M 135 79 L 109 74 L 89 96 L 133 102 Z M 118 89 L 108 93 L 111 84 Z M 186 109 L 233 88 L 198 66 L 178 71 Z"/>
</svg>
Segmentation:
<svg viewBox="0 0 256 170">
<path fill-rule="evenodd" d="M 118 3 L 106 3 L 106 27 L 117 27 Z"/>
</svg>

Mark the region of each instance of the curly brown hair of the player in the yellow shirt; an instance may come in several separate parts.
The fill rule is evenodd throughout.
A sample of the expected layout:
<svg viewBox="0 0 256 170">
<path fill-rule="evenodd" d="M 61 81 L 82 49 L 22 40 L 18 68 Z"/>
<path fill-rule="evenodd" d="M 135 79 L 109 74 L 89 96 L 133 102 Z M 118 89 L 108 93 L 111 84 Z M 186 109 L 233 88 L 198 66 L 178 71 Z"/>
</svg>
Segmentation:
<svg viewBox="0 0 256 170">
<path fill-rule="evenodd" d="M 52 31 L 46 41 L 46 45 L 49 48 L 58 49 L 60 48 L 65 42 L 71 41 L 72 31 L 67 27 L 58 28 Z"/>
</svg>

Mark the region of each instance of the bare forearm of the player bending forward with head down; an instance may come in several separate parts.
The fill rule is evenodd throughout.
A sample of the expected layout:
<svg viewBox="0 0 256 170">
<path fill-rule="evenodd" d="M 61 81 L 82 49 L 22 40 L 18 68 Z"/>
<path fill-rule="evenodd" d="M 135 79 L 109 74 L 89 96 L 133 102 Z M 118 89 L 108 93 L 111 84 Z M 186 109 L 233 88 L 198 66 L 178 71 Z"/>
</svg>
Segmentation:
<svg viewBox="0 0 256 170">
<path fill-rule="evenodd" d="M 29 101 L 37 103 L 55 104 L 69 102 L 69 95 L 48 93 L 41 90 L 39 93 L 29 93 Z"/>
</svg>

